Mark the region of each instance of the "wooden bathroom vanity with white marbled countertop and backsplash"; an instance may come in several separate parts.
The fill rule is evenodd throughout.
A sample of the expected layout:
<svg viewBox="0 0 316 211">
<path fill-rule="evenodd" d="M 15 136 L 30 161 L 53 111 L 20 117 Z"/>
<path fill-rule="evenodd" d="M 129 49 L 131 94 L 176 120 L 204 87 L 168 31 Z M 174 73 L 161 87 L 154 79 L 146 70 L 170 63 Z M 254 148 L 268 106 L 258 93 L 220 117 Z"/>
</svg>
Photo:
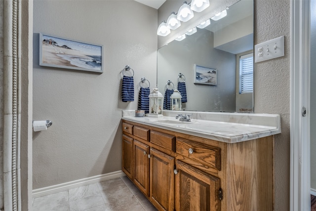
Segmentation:
<svg viewBox="0 0 316 211">
<path fill-rule="evenodd" d="M 176 114 L 122 117 L 122 170 L 159 211 L 274 210 L 279 115 Z"/>
</svg>

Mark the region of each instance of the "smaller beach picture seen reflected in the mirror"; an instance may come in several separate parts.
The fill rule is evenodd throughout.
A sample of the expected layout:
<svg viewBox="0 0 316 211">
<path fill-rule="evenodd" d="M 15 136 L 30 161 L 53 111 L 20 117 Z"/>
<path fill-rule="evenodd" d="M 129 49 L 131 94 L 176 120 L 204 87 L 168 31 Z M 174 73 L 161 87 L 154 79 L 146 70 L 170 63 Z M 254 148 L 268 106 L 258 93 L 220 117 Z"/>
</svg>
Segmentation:
<svg viewBox="0 0 316 211">
<path fill-rule="evenodd" d="M 194 84 L 217 85 L 217 70 L 195 64 Z"/>
</svg>

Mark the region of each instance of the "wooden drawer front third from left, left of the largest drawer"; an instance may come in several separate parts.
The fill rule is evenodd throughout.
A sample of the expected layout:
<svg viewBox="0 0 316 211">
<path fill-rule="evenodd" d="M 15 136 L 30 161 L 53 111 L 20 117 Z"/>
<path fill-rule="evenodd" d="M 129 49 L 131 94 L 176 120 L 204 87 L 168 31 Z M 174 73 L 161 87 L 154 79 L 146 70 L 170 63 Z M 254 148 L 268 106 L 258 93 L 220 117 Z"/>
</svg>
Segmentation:
<svg viewBox="0 0 316 211">
<path fill-rule="evenodd" d="M 175 137 L 172 135 L 167 135 L 167 134 L 152 130 L 150 131 L 150 142 L 160 147 L 164 147 L 168 150 L 174 151 Z"/>
</svg>

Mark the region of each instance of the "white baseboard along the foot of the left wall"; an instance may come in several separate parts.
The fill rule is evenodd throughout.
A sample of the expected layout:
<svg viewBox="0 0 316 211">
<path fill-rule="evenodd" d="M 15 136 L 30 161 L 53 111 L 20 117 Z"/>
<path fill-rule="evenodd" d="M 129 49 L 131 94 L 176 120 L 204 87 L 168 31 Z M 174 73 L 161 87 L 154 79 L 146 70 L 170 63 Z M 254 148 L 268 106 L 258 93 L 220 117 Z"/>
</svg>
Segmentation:
<svg viewBox="0 0 316 211">
<path fill-rule="evenodd" d="M 105 174 L 101 174 L 101 175 L 97 175 L 97 176 L 91 176 L 91 177 L 78 179 L 78 180 L 71 181 L 71 182 L 65 182 L 65 183 L 58 184 L 58 185 L 52 185 L 52 186 L 48 186 L 48 187 L 44 187 L 44 188 L 35 189 L 32 191 L 32 196 L 34 199 L 34 198 L 38 198 L 41 196 L 46 196 L 49 194 L 69 190 L 72 188 L 77 188 L 80 186 L 89 185 L 89 184 L 93 184 L 96 182 L 102 182 L 105 180 L 118 178 L 121 176 L 125 176 L 125 174 L 121 170 L 114 171 L 111 173 L 105 173 Z"/>
</svg>

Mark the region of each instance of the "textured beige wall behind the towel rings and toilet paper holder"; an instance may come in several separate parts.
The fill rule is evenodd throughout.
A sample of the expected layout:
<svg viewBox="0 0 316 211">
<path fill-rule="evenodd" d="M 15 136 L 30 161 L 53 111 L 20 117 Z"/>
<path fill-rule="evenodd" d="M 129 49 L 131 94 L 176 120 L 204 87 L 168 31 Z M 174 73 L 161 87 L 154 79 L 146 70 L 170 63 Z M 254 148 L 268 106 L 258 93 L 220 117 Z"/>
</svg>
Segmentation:
<svg viewBox="0 0 316 211">
<path fill-rule="evenodd" d="M 157 9 L 132 0 L 34 1 L 33 189 L 121 169 L 121 111 L 137 109 L 142 77 L 156 84 Z M 39 66 L 39 34 L 103 44 L 104 73 Z M 135 101 L 120 98 L 134 72 Z"/>
</svg>

